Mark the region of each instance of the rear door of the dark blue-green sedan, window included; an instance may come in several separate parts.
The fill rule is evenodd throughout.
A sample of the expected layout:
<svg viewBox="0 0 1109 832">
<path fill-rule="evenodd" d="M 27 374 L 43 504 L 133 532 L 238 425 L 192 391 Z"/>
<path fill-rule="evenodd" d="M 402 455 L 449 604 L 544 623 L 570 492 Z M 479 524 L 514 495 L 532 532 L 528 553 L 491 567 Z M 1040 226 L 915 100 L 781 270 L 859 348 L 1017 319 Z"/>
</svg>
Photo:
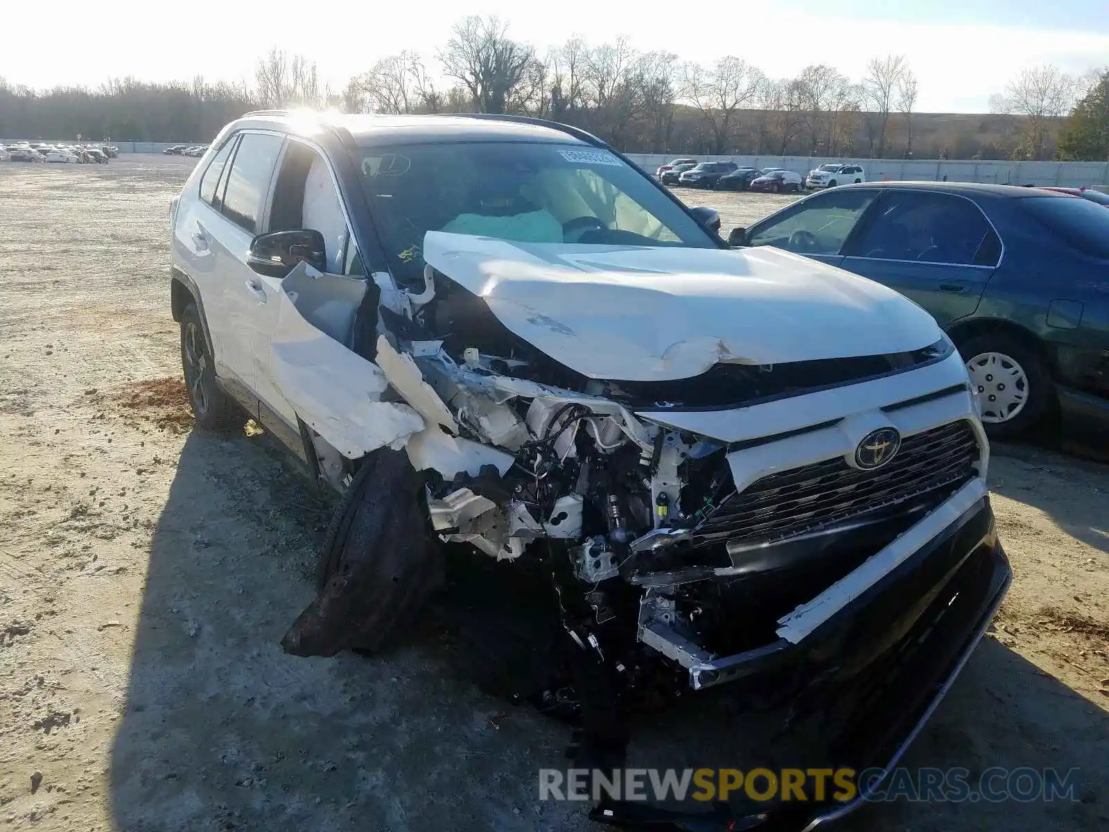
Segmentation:
<svg viewBox="0 0 1109 832">
<path fill-rule="evenodd" d="M 965 196 L 891 189 L 844 254 L 843 268 L 897 290 L 946 327 L 978 307 L 1001 241 Z"/>
</svg>

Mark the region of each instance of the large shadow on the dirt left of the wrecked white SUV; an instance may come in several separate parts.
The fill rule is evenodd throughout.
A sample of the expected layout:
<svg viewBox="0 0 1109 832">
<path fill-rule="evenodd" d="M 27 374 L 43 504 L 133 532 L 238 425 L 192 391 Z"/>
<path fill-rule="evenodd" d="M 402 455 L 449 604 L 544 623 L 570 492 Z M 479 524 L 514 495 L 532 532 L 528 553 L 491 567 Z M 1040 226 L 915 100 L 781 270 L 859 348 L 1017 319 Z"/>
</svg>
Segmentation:
<svg viewBox="0 0 1109 832">
<path fill-rule="evenodd" d="M 327 519 L 265 444 L 189 436 L 111 753 L 116 828 L 589 829 L 537 798 L 568 730 L 459 682 L 435 633 L 372 659 L 282 651 Z"/>
</svg>

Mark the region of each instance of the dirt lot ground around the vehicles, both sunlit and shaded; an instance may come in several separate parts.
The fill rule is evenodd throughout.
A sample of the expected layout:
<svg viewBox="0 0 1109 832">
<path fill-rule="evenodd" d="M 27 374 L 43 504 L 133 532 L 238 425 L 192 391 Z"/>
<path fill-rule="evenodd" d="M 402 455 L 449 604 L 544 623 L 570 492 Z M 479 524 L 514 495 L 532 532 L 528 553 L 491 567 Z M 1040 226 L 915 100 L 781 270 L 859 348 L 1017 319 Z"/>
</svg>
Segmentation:
<svg viewBox="0 0 1109 832">
<path fill-rule="evenodd" d="M 166 267 L 192 163 L 0 164 L 3 828 L 592 829 L 538 800 L 566 729 L 459 681 L 435 633 L 281 651 L 327 514 L 257 430 L 192 429 Z M 790 199 L 682 195 L 725 229 Z M 1082 800 L 841 829 L 1109 828 L 1109 468 L 997 447 L 990 477 L 1013 590 L 906 763 L 1078 767 Z"/>
</svg>

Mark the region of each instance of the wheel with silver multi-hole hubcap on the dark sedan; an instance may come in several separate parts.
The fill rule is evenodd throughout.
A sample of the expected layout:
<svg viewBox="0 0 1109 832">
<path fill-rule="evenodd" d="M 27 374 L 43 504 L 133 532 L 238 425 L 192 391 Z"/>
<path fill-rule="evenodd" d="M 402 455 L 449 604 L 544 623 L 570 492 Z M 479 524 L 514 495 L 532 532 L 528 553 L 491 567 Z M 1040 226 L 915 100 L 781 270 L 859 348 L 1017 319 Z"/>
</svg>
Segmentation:
<svg viewBox="0 0 1109 832">
<path fill-rule="evenodd" d="M 959 352 L 991 437 L 1018 436 L 1047 410 L 1055 385 L 1034 346 L 1005 333 L 986 333 L 967 339 Z"/>
</svg>

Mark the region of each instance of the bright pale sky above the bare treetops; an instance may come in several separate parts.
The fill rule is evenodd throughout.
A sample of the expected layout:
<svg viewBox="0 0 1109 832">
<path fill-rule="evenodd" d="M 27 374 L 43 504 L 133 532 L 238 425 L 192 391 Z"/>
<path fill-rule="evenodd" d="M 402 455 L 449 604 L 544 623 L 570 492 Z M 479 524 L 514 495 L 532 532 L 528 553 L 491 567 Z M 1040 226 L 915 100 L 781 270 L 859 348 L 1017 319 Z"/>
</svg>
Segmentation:
<svg viewBox="0 0 1109 832">
<path fill-rule="evenodd" d="M 498 14 L 540 54 L 580 34 L 628 35 L 711 63 L 735 54 L 769 75 L 827 63 L 858 79 L 868 58 L 904 54 L 919 83 L 918 112 L 985 112 L 989 95 L 1029 65 L 1082 73 L 1109 64 L 1107 0 L 745 0 L 686 11 L 681 3 L 615 0 L 367 2 L 190 0 L 51 3 L 49 24 L 0 33 L 0 78 L 33 88 L 95 87 L 109 78 L 252 80 L 273 47 L 317 63 L 335 91 L 378 58 L 410 49 L 435 67 L 435 49 L 464 14 Z M 694 7 L 695 8 L 695 7 Z M 729 11 L 723 11 L 728 9 Z"/>
</svg>

